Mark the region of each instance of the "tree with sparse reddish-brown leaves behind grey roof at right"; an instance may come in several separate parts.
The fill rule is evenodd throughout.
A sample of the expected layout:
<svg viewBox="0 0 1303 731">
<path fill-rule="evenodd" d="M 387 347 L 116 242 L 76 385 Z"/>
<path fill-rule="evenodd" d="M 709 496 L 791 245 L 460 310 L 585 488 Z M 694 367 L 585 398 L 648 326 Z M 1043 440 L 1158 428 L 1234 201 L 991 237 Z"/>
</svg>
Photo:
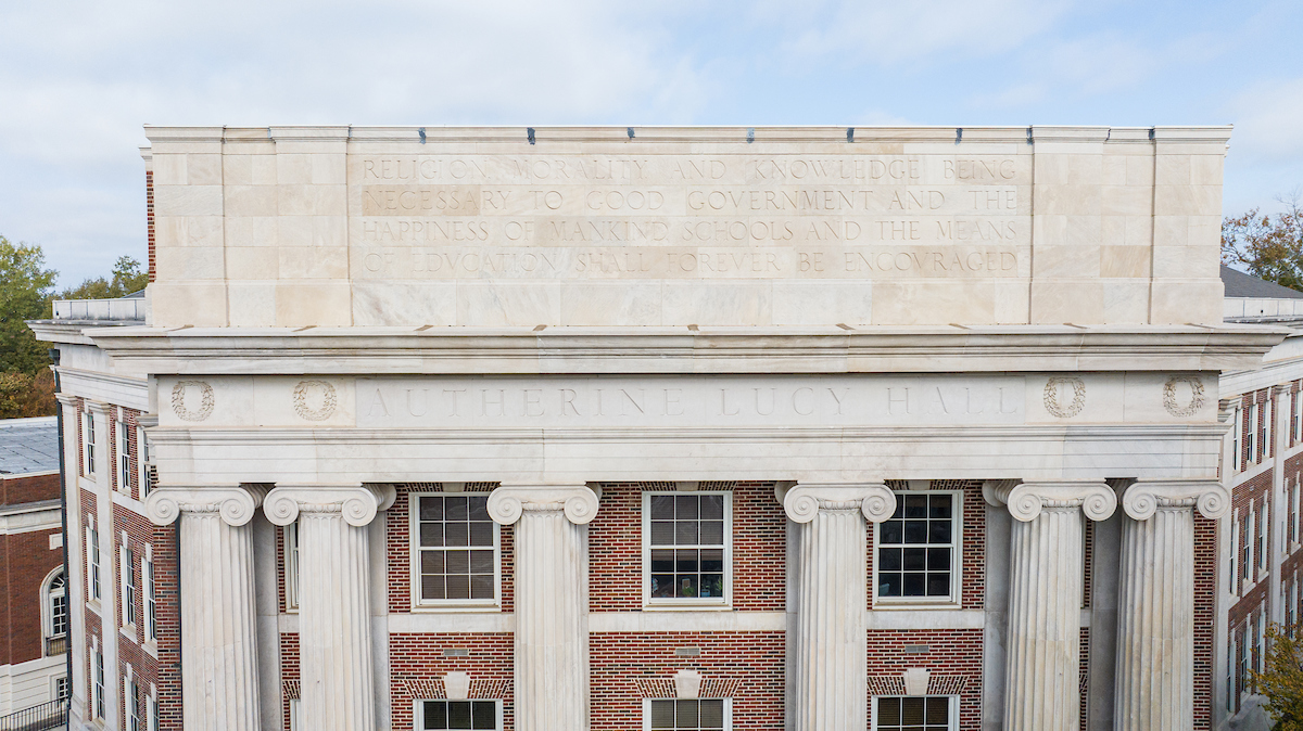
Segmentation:
<svg viewBox="0 0 1303 731">
<path fill-rule="evenodd" d="M 1303 208 L 1298 194 L 1281 203 L 1285 211 L 1274 216 L 1253 208 L 1222 221 L 1222 264 L 1303 290 Z"/>
</svg>

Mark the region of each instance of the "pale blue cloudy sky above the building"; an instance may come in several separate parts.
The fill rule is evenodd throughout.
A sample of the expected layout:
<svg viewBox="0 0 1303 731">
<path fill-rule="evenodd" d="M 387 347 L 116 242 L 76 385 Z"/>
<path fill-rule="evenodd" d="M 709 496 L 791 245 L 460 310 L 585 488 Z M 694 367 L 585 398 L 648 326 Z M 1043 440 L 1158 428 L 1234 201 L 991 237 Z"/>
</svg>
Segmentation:
<svg viewBox="0 0 1303 731">
<path fill-rule="evenodd" d="M 1225 211 L 1303 186 L 1303 3 L 0 4 L 0 234 L 143 259 L 143 124 L 1234 124 Z"/>
</svg>

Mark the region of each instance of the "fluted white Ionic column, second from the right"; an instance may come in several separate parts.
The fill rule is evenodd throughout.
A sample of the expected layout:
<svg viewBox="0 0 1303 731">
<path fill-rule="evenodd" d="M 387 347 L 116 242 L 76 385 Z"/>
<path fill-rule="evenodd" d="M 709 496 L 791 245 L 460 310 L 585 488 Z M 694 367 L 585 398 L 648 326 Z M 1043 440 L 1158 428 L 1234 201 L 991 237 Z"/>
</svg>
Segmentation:
<svg viewBox="0 0 1303 731">
<path fill-rule="evenodd" d="M 1080 726 L 1081 514 L 1104 520 L 1118 498 L 1102 481 L 982 485 L 1014 516 L 1005 652 L 1005 728 L 1075 731 Z"/>
</svg>

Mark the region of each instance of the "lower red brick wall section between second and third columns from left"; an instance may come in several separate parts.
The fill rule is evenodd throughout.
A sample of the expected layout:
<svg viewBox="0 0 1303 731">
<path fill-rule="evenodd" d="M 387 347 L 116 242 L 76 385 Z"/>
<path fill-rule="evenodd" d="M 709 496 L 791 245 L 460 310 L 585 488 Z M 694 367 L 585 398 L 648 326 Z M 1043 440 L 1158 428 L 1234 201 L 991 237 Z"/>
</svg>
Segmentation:
<svg viewBox="0 0 1303 731">
<path fill-rule="evenodd" d="M 512 643 L 509 632 L 390 635 L 392 727 L 413 727 L 414 702 L 431 698 L 433 680 L 442 684 L 446 672 L 465 672 L 470 676 L 470 697 L 500 698 L 503 728 L 515 728 Z M 444 657 L 444 650 L 451 648 L 465 649 L 469 654 Z"/>
</svg>

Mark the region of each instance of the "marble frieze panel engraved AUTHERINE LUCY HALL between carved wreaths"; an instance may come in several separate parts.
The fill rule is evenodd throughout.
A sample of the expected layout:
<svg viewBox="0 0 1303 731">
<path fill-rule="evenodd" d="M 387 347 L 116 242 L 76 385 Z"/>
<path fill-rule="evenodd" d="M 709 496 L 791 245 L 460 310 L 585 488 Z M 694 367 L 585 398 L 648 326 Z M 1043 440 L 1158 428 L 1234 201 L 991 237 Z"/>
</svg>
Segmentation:
<svg viewBox="0 0 1303 731">
<path fill-rule="evenodd" d="M 360 427 L 1022 423 L 1022 379 L 358 379 Z"/>
</svg>

